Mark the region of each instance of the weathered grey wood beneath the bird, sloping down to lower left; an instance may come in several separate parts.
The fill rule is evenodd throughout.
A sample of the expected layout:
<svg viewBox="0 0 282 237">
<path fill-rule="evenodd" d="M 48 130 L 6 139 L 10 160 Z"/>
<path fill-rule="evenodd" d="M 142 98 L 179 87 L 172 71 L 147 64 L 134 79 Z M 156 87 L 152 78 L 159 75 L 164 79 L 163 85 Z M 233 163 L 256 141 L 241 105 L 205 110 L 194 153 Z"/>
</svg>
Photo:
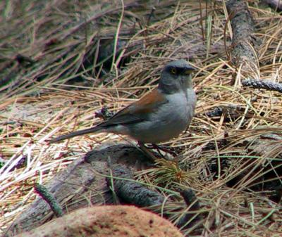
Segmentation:
<svg viewBox="0 0 282 237">
<path fill-rule="evenodd" d="M 113 203 L 106 178 L 99 174 L 108 174 L 111 160 L 131 169 L 147 167 L 144 154 L 135 146 L 127 144 L 106 144 L 99 150 L 92 150 L 73 164 L 63 169 L 45 186 L 63 207 L 63 212 L 70 212 L 80 207 L 95 204 Z M 37 198 L 8 228 L 4 236 L 13 236 L 22 231 L 29 231 L 54 218 L 49 205 Z"/>
</svg>

